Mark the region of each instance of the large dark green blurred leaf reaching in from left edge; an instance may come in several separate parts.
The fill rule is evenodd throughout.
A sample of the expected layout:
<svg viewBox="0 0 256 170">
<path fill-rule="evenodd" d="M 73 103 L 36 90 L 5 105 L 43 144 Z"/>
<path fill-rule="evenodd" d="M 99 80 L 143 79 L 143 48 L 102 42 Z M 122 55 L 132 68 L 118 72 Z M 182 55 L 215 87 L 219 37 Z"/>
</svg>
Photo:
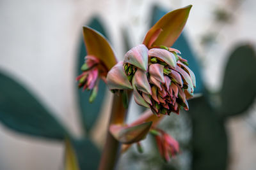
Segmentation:
<svg viewBox="0 0 256 170">
<path fill-rule="evenodd" d="M 0 73 L 0 121 L 31 136 L 63 139 L 64 127 L 27 89 Z"/>
</svg>

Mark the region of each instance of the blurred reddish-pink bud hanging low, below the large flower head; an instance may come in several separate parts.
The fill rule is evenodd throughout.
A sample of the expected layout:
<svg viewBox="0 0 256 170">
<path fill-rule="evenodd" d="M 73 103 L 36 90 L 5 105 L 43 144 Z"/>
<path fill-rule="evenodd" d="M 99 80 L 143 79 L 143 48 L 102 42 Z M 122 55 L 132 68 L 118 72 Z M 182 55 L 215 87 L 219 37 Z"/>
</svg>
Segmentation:
<svg viewBox="0 0 256 170">
<path fill-rule="evenodd" d="M 169 162 L 171 157 L 174 157 L 179 153 L 179 143 L 161 129 L 153 129 L 151 131 L 155 136 L 160 155 L 166 162 Z"/>
</svg>

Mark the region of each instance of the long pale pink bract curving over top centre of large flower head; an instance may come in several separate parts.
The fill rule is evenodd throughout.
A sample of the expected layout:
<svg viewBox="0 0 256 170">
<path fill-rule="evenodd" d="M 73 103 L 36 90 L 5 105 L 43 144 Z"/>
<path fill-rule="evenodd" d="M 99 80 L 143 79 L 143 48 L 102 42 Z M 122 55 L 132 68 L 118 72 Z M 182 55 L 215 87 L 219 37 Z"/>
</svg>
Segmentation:
<svg viewBox="0 0 256 170">
<path fill-rule="evenodd" d="M 157 57 L 164 60 L 170 67 L 175 68 L 177 65 L 175 55 L 161 48 L 152 48 L 148 51 L 149 57 Z"/>
</svg>

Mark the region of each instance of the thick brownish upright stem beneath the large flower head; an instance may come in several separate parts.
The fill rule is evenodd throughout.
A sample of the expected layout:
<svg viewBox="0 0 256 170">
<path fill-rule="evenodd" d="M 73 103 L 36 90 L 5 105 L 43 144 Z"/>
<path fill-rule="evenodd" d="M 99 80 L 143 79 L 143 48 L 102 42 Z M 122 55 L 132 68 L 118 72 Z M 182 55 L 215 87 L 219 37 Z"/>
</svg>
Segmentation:
<svg viewBox="0 0 256 170">
<path fill-rule="evenodd" d="M 128 92 L 128 99 L 130 99 L 131 92 Z M 121 143 L 118 142 L 109 132 L 111 124 L 124 124 L 127 115 L 127 110 L 124 108 L 122 102 L 122 95 L 115 94 L 112 104 L 111 117 L 108 124 L 108 134 L 104 149 L 102 151 L 99 170 L 115 169 L 116 162 L 120 155 Z"/>
</svg>

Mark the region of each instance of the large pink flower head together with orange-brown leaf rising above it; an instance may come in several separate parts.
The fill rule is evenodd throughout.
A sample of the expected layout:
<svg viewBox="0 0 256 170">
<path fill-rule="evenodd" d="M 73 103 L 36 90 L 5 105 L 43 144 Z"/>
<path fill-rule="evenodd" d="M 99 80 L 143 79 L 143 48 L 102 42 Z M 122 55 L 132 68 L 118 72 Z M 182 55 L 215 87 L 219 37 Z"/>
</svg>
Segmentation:
<svg viewBox="0 0 256 170">
<path fill-rule="evenodd" d="M 122 64 L 109 71 L 109 89 L 133 89 L 136 103 L 157 116 L 188 110 L 187 99 L 196 87 L 195 74 L 180 51 L 169 46 L 179 37 L 190 9 L 186 6 L 164 15 L 147 32 L 143 44 L 131 48 Z"/>
</svg>

